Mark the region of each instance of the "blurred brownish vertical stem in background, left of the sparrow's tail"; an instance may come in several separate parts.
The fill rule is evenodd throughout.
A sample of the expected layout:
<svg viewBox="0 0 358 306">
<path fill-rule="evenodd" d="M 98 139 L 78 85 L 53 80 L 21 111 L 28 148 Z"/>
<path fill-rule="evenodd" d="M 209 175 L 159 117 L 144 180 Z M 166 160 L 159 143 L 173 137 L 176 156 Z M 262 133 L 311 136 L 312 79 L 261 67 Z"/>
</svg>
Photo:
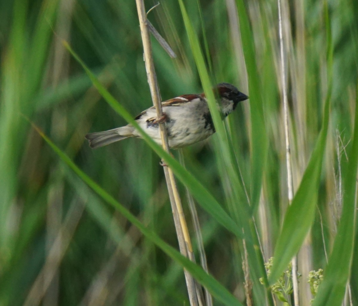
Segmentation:
<svg viewBox="0 0 358 306">
<path fill-rule="evenodd" d="M 71 18 L 74 8 L 73 0 L 61 0 L 59 3 L 59 17 L 53 29 L 56 35 L 53 39 L 53 60 L 49 61 L 51 79 L 51 85 L 56 88 L 59 82 L 68 77 L 69 70 L 69 55 L 66 53 L 66 49 L 63 47 L 62 41 L 57 39 L 57 35 L 61 36 L 65 40 L 69 40 L 71 30 Z M 55 118 L 61 118 L 66 116 L 61 108 L 55 107 L 52 113 L 53 120 L 51 121 L 51 134 L 54 138 L 62 139 L 64 134 L 61 133 L 61 128 L 66 130 L 66 120 L 56 120 Z M 59 127 L 59 122 L 61 127 Z M 58 249 L 52 250 L 52 246 L 57 239 L 59 231 L 61 231 L 62 223 L 62 211 L 63 211 L 63 197 L 64 197 L 64 183 L 63 175 L 58 165 L 52 169 L 51 180 L 52 186 L 48 191 L 47 200 L 47 212 L 46 212 L 46 236 L 45 236 L 45 252 L 46 262 L 56 262 L 57 258 L 61 256 L 62 241 L 58 240 Z M 44 283 L 44 296 L 42 298 L 43 306 L 58 305 L 59 293 L 60 293 L 60 274 L 59 267 L 54 271 L 52 269 L 44 269 L 43 280 L 52 279 L 47 286 Z"/>
</svg>

